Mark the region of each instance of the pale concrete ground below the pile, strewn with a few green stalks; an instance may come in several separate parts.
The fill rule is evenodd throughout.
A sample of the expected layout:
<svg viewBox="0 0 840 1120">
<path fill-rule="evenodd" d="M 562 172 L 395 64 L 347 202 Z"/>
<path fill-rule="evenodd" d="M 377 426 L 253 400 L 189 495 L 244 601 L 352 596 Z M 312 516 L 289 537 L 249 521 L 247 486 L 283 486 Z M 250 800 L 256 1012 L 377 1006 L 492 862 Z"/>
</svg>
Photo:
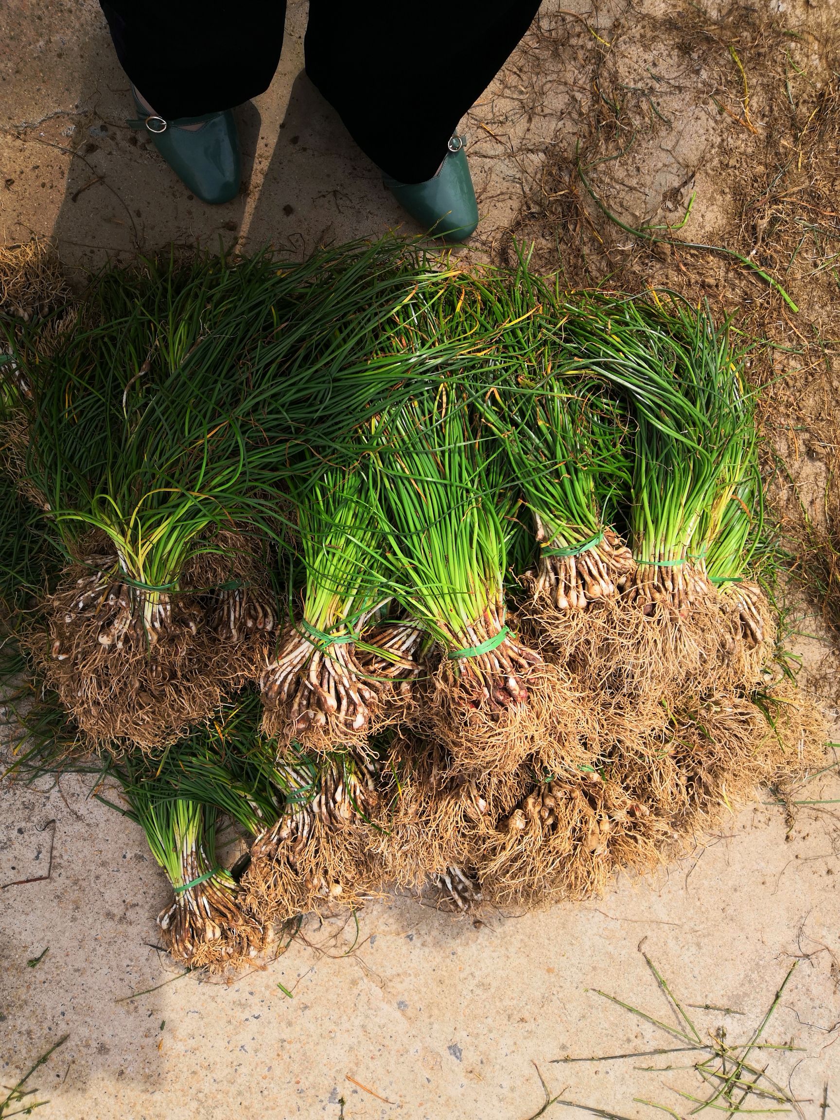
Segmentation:
<svg viewBox="0 0 840 1120">
<path fill-rule="evenodd" d="M 840 783 L 802 797 L 840 797 Z M 791 1075 L 802 1114 L 822 1120 L 825 1085 L 830 1103 L 840 1092 L 834 808 L 803 806 L 786 838 L 782 812 L 757 804 L 678 865 L 585 905 L 474 922 L 374 904 L 357 933 L 309 924 L 306 942 L 226 984 L 177 979 L 156 952 L 167 887 L 139 828 L 76 780 L 6 787 L 0 881 L 43 874 L 54 846 L 48 880 L 1 896 L 0 1083 L 68 1033 L 32 1079 L 45 1120 L 525 1120 L 544 1102 L 534 1064 L 566 1100 L 654 1117 L 642 1099 L 684 1117 L 675 1089 L 698 1095 L 697 1075 L 638 1068 L 683 1055 L 552 1064 L 680 1045 L 592 990 L 672 1025 L 647 953 L 703 1037 L 722 1025 L 732 1042 L 796 963 L 763 1038 L 801 1049 L 763 1051 L 760 1064 Z"/>
</svg>

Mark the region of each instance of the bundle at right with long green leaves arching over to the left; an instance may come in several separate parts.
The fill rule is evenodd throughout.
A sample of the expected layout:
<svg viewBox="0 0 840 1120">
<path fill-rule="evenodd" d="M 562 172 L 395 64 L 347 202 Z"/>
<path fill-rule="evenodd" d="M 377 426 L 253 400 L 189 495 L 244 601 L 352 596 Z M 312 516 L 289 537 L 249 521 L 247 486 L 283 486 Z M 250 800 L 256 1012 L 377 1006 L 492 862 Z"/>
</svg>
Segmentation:
<svg viewBox="0 0 840 1120">
<path fill-rule="evenodd" d="M 587 300 L 562 332 L 567 358 L 624 398 L 632 445 L 624 517 L 633 563 L 619 582 L 622 609 L 590 643 L 588 680 L 659 702 L 718 672 L 720 599 L 706 549 L 754 470 L 753 400 L 728 326 L 676 297 Z"/>
</svg>

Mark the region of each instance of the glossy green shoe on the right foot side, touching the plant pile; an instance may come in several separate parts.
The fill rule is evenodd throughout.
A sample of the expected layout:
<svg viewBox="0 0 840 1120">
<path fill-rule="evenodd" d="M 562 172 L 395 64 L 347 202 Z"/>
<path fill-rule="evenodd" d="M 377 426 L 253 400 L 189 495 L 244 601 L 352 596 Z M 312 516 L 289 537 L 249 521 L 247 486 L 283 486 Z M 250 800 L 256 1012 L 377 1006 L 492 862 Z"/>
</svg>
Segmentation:
<svg viewBox="0 0 840 1120">
<path fill-rule="evenodd" d="M 466 241 L 478 225 L 473 177 L 460 137 L 450 139 L 446 159 L 426 183 L 399 183 L 390 175 L 383 175 L 382 181 L 432 237 Z"/>
</svg>

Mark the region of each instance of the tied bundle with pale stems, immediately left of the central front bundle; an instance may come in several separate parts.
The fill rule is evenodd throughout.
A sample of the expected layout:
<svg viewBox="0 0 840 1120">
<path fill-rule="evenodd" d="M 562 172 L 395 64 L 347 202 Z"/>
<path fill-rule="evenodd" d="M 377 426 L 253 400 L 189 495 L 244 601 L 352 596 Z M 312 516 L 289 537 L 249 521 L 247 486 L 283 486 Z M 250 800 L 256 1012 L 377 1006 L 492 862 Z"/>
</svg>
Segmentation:
<svg viewBox="0 0 840 1120">
<path fill-rule="evenodd" d="M 420 632 L 372 625 L 390 596 L 366 488 L 358 465 L 321 469 L 318 460 L 314 468 L 300 463 L 286 491 L 305 587 L 302 609 L 283 627 L 260 679 L 263 727 L 314 749 L 363 744 L 374 726 L 395 721 L 395 678 L 417 672 L 411 653 Z"/>
</svg>

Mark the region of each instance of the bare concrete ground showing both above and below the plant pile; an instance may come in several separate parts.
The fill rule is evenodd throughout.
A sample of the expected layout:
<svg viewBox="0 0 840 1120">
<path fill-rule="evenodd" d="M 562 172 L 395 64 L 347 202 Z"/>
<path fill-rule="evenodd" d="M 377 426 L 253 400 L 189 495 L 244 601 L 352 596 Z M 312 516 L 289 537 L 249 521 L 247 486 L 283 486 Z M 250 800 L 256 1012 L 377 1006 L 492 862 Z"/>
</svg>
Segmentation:
<svg viewBox="0 0 840 1120">
<path fill-rule="evenodd" d="M 240 111 L 248 189 L 211 209 L 123 124 L 128 86 L 96 4 L 10 0 L 0 9 L 0 235 L 52 235 L 66 262 L 87 268 L 171 240 L 301 252 L 410 231 L 301 75 L 304 26 L 293 2 L 274 83 Z M 517 65 L 465 122 L 479 249 L 515 214 L 522 168 L 560 112 L 517 108 Z M 819 661 L 821 646 L 800 644 Z M 153 948 L 167 887 L 137 827 L 81 780 L 48 792 L 0 784 L 0 886 L 49 872 L 0 890 L 0 1084 L 66 1034 L 27 1084 L 38 1089 L 28 1100 L 49 1100 L 45 1120 L 525 1120 L 545 1103 L 540 1074 L 562 1091 L 544 1114 L 577 1102 L 652 1118 L 654 1102 L 683 1117 L 694 1105 L 676 1090 L 702 1089 L 674 1068 L 684 1055 L 552 1064 L 680 1045 L 594 990 L 673 1025 L 646 953 L 701 1036 L 724 1026 L 730 1040 L 752 1035 L 795 963 L 762 1040 L 797 1048 L 756 1061 L 790 1083 L 802 1117 L 827 1120 L 840 1098 L 840 782 L 808 785 L 797 800 L 820 803 L 795 806 L 792 822 L 771 800 L 601 900 L 482 921 L 409 899 L 372 904 L 357 931 L 310 923 L 276 961 L 225 983 L 179 979 Z"/>
</svg>

